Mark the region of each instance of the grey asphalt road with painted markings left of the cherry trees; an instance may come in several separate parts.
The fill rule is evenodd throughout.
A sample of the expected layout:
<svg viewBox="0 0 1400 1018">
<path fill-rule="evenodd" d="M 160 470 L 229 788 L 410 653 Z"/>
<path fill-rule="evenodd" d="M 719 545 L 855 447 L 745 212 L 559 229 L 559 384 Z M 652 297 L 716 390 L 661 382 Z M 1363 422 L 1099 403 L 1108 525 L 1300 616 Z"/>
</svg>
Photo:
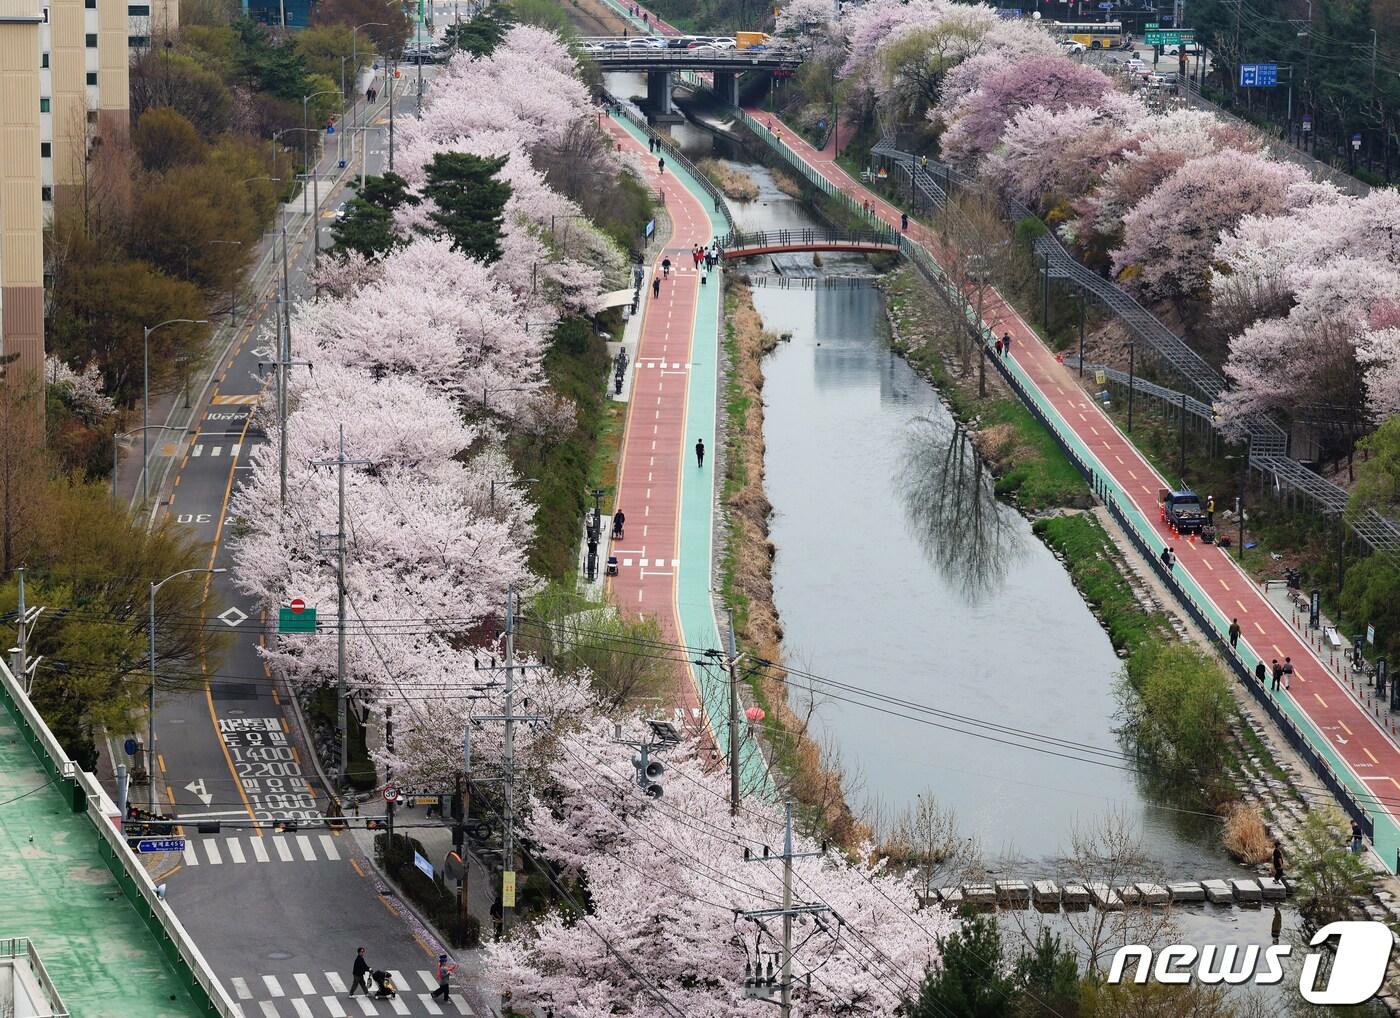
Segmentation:
<svg viewBox="0 0 1400 1018">
<path fill-rule="evenodd" d="M 413 102 L 413 84 L 403 85 L 410 95 L 402 97 L 398 115 L 407 115 Z M 371 174 L 386 164 L 386 115 L 375 109 L 370 122 L 381 120 L 367 132 Z M 323 244 L 330 242 L 335 206 L 349 193 L 323 195 Z M 293 239 L 294 301 L 309 297 L 308 239 Z M 248 452 L 266 441 L 252 413 L 262 391 L 258 361 L 269 358 L 276 335 L 273 295 L 259 294 L 251 328 L 239 335 L 196 413 L 193 433 L 176 451 L 178 466 L 157 510 L 209 543 L 213 567 L 230 570 L 210 577 L 204 625 L 227 627 L 231 639 L 206 672 L 204 689 L 158 702 L 161 808 L 186 821 L 188 839 L 183 856 L 161 861 L 160 877 L 175 913 L 245 1015 L 470 1014 L 461 997 L 447 1005 L 427 997 L 437 942 L 392 895 L 381 893 L 347 833 L 315 822 L 326 808 L 326 788 L 284 690 L 258 657 L 263 620 L 234 584 L 228 503 L 249 469 Z M 335 521 L 326 521 L 326 529 L 333 528 Z M 221 830 L 197 833 L 202 819 L 220 822 Z M 277 825 L 287 821 L 297 829 L 279 833 Z M 374 968 L 402 973 L 398 1000 L 346 997 L 358 947 L 368 949 Z"/>
</svg>

